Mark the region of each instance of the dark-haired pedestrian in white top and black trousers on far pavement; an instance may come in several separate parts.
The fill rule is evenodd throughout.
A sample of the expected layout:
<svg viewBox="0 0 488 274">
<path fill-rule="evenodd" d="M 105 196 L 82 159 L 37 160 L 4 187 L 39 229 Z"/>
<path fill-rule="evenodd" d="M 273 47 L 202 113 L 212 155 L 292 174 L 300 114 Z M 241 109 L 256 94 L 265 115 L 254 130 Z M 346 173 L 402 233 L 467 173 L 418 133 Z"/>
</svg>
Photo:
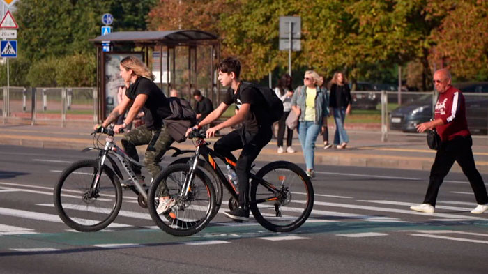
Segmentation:
<svg viewBox="0 0 488 274">
<path fill-rule="evenodd" d="M 275 87 L 275 93 L 283 102 L 283 116 L 278 121 L 278 135 L 277 145 L 278 153 L 283 153 L 283 137 L 284 130 L 287 130 L 287 153 L 295 153 L 295 150 L 291 147 L 293 141 L 293 130 L 288 128 L 284 121 L 287 120 L 288 114 L 291 111 L 291 97 L 293 96 L 293 89 L 291 88 L 291 76 L 285 73 L 278 81 L 278 85 Z"/>
</svg>

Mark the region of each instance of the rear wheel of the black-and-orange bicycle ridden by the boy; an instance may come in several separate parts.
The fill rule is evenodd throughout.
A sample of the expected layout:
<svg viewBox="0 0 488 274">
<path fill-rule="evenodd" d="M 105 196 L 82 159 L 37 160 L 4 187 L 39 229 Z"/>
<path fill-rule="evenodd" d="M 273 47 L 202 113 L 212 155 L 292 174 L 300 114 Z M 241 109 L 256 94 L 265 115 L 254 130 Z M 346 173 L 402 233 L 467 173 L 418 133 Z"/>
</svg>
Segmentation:
<svg viewBox="0 0 488 274">
<path fill-rule="evenodd" d="M 314 188 L 307 174 L 291 162 L 270 162 L 251 182 L 250 209 L 257 222 L 275 232 L 293 231 L 312 212 Z"/>
</svg>

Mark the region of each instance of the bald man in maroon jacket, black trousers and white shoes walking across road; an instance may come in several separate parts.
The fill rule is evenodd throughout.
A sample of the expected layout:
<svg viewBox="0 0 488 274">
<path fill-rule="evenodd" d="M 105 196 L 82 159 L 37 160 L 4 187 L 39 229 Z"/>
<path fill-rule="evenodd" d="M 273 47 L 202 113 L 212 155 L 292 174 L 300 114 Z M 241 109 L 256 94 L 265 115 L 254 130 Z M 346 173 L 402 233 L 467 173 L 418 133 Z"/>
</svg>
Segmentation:
<svg viewBox="0 0 488 274">
<path fill-rule="evenodd" d="M 434 86 L 439 91 L 434 121 L 417 125 L 418 132 L 436 128 L 441 137 L 441 146 L 430 169 L 429 186 L 423 204 L 411 206 L 413 211 L 433 213 L 439 188 L 448 175 L 454 161 L 468 177 L 475 193 L 478 206 L 471 213 L 480 214 L 488 210 L 488 195 L 480 172 L 476 169 L 471 145 L 471 133 L 466 122 L 466 105 L 461 91 L 451 86 L 449 70 L 443 68 L 434 73 Z"/>
</svg>

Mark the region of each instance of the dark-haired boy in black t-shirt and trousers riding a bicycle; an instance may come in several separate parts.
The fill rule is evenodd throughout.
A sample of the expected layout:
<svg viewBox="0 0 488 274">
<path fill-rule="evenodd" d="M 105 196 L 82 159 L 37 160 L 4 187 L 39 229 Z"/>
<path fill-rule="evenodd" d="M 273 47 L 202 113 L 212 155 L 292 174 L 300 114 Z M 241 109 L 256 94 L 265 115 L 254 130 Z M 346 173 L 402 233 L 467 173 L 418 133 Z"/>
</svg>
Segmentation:
<svg viewBox="0 0 488 274">
<path fill-rule="evenodd" d="M 222 156 L 235 160 L 231 151 L 242 149 L 237 160 L 236 174 L 239 188 L 239 206 L 233 211 L 225 214 L 235 220 L 249 219 L 249 172 L 252 162 L 257 158 L 273 137 L 271 124 L 266 114 L 266 101 L 261 92 L 252 86 L 247 86 L 239 79 L 241 73 L 241 62 L 232 57 L 226 58 L 218 65 L 218 79 L 222 86 L 229 86 L 227 93 L 220 105 L 213 110 L 203 121 L 200 121 L 195 128 L 199 129 L 204 125 L 218 119 L 225 112 L 229 105 L 235 103 L 238 108 L 236 115 L 227 119 L 213 128 L 206 131 L 207 137 L 213 137 L 215 132 L 238 123 L 242 128 L 230 132 L 228 135 L 215 142 L 213 148 Z M 187 135 L 192 129 L 188 129 Z"/>
</svg>

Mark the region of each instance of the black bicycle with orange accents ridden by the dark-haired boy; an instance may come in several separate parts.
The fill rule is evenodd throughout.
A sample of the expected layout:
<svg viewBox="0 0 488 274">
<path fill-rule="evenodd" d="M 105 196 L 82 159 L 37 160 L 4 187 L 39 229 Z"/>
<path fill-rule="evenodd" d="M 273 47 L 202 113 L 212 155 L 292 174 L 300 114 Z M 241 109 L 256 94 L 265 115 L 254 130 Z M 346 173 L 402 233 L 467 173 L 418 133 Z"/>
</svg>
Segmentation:
<svg viewBox="0 0 488 274">
<path fill-rule="evenodd" d="M 217 214 L 215 192 L 208 177 L 201 179 L 197 168 L 200 156 L 212 167 L 230 193 L 229 208 L 238 206 L 238 188 L 227 180 L 215 159 L 222 160 L 235 170 L 236 161 L 225 158 L 208 148 L 205 133 L 192 131 L 188 136 L 197 139 L 195 155 L 190 162 L 169 165 L 154 179 L 148 192 L 148 211 L 163 231 L 174 236 L 190 236 L 204 229 Z M 310 216 L 314 204 L 314 189 L 303 169 L 291 162 L 270 162 L 256 174 L 250 174 L 250 211 L 263 227 L 275 232 L 293 231 Z M 170 195 L 174 206 L 158 214 L 159 197 Z M 297 199 L 305 195 L 305 199 Z M 291 206 L 293 204 L 293 207 Z M 217 209 L 217 210 L 216 210 Z"/>
</svg>

